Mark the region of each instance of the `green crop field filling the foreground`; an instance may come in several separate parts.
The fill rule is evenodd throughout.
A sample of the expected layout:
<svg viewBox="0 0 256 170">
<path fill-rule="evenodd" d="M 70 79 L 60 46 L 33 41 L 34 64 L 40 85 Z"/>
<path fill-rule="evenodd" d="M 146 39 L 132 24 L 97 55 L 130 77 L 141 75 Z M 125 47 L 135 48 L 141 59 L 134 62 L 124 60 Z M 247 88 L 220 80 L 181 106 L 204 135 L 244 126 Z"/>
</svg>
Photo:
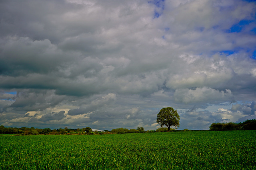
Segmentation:
<svg viewBox="0 0 256 170">
<path fill-rule="evenodd" d="M 256 131 L 0 136 L 1 170 L 255 170 Z"/>
</svg>

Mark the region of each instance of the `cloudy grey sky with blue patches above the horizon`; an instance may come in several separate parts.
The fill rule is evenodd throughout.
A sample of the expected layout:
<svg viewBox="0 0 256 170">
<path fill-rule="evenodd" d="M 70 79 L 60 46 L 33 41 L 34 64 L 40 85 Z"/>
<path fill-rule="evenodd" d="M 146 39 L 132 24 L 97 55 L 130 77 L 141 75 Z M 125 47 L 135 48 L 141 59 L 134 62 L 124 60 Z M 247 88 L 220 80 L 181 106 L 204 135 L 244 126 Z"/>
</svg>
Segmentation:
<svg viewBox="0 0 256 170">
<path fill-rule="evenodd" d="M 0 1 L 0 125 L 156 130 L 256 119 L 252 0 Z"/>
</svg>

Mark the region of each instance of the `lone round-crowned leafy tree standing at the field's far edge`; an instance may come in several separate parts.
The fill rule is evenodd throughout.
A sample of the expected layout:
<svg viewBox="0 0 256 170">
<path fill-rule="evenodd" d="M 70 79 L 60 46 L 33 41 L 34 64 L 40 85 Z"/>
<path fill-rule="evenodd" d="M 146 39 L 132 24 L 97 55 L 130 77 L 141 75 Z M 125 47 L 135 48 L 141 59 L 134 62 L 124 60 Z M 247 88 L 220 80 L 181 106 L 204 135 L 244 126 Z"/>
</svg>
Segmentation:
<svg viewBox="0 0 256 170">
<path fill-rule="evenodd" d="M 180 127 L 180 116 L 177 113 L 177 110 L 172 107 L 164 107 L 157 114 L 156 122 L 161 127 L 168 127 L 168 131 L 170 131 L 170 127 L 174 126 L 175 129 Z"/>
</svg>

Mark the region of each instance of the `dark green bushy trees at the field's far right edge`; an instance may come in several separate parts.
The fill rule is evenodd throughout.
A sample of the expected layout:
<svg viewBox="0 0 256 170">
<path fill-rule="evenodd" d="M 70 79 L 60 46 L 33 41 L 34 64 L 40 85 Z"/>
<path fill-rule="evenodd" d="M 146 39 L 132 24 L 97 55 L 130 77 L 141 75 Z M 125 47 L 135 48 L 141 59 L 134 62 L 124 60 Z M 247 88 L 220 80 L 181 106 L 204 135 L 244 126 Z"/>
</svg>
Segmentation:
<svg viewBox="0 0 256 170">
<path fill-rule="evenodd" d="M 243 123 L 212 123 L 210 131 L 256 130 L 256 119 L 246 120 Z"/>
</svg>

